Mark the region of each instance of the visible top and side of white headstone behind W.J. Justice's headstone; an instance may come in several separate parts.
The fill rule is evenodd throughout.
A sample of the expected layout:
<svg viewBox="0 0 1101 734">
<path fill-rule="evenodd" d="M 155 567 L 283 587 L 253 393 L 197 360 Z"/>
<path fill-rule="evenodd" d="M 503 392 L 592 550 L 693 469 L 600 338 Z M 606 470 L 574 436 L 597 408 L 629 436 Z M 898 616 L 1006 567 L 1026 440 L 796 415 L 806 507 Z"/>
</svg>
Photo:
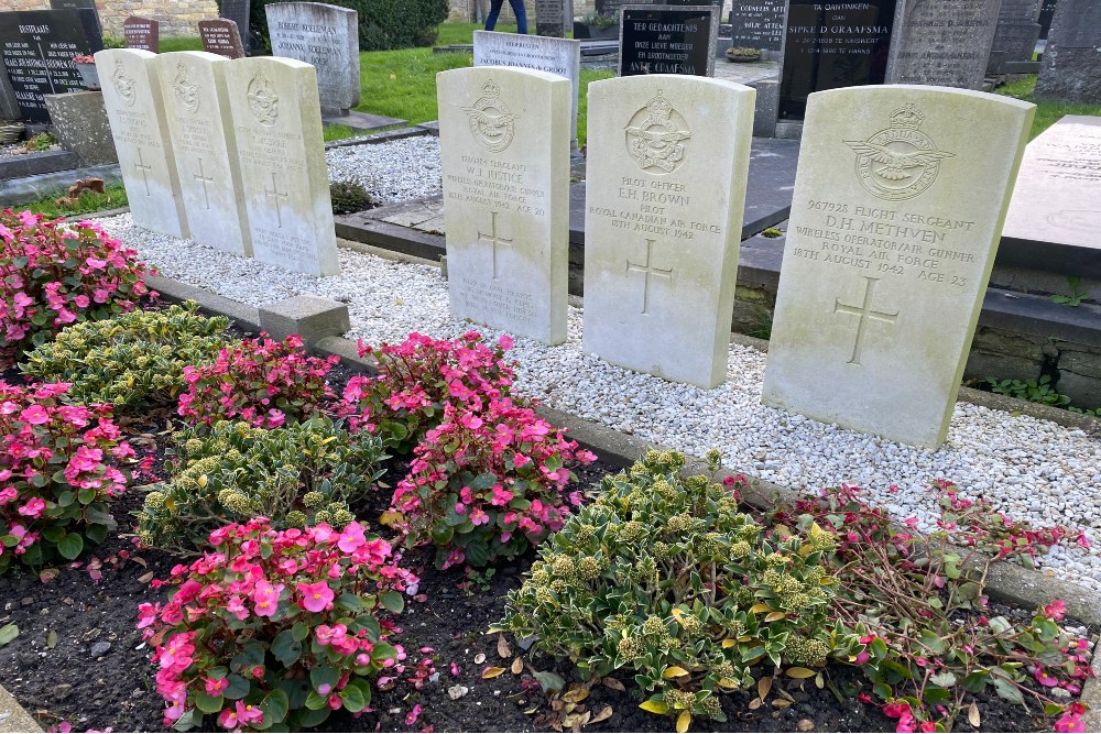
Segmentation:
<svg viewBox="0 0 1101 734">
<path fill-rule="evenodd" d="M 581 42 L 544 35 L 475 31 L 475 66 L 515 66 L 557 74 L 569 79 L 569 138 L 577 140 L 577 94 L 581 84 Z"/>
</svg>

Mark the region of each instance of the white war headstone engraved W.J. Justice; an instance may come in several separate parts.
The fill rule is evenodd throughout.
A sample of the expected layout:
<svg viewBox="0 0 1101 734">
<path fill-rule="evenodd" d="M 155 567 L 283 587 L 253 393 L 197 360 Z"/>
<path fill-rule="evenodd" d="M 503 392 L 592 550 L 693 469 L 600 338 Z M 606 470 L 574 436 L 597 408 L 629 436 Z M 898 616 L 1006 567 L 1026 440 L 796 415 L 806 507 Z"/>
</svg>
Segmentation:
<svg viewBox="0 0 1101 734">
<path fill-rule="evenodd" d="M 454 69 L 436 96 L 451 314 L 565 341 L 569 80 Z"/>
</svg>

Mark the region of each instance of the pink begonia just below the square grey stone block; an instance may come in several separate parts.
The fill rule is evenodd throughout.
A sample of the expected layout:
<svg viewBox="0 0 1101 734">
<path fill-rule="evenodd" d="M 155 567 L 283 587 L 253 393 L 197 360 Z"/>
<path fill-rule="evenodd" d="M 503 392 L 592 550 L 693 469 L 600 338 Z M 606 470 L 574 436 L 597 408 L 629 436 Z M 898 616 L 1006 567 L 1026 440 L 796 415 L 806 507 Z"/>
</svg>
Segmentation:
<svg viewBox="0 0 1101 734">
<path fill-rule="evenodd" d="M 221 350 L 211 364 L 184 368 L 187 391 L 178 413 L 207 425 L 236 418 L 254 428 L 279 428 L 336 399 L 325 379 L 339 361 L 309 357 L 297 335 L 280 342 L 261 333 Z"/>
</svg>

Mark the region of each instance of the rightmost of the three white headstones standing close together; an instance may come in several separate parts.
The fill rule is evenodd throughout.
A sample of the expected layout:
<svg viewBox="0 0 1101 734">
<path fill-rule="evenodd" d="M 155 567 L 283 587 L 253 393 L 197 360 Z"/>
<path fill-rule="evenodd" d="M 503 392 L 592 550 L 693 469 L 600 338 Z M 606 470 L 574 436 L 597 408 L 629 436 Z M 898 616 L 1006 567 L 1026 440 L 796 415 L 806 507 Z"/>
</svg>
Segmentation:
<svg viewBox="0 0 1101 734">
<path fill-rule="evenodd" d="M 340 263 L 314 67 L 260 57 L 225 68 L 253 256 L 336 275 Z"/>
</svg>

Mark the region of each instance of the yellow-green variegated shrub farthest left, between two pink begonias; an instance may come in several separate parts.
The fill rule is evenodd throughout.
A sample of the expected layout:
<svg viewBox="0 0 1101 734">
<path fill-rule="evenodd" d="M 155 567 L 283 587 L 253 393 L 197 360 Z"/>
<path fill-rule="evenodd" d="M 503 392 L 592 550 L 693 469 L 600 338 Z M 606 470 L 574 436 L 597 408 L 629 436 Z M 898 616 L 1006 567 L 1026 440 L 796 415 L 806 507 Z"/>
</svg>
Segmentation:
<svg viewBox="0 0 1101 734">
<path fill-rule="evenodd" d="M 23 372 L 72 383 L 70 403 L 110 403 L 116 415 L 174 402 L 184 368 L 214 361 L 231 341 L 229 319 L 205 318 L 188 302 L 159 311 L 132 311 L 77 324 L 29 352 Z"/>
</svg>

